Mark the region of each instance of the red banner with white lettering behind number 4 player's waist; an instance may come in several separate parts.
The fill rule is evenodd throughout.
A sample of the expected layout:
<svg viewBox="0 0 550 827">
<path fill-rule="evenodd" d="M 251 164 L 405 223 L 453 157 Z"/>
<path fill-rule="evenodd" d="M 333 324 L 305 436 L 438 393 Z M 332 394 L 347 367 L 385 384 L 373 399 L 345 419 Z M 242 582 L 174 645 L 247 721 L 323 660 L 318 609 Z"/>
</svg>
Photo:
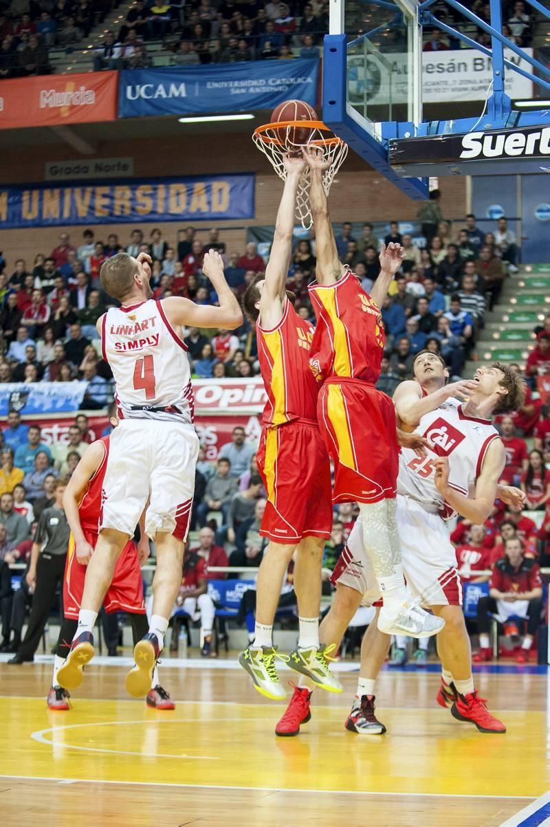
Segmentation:
<svg viewBox="0 0 550 827">
<path fill-rule="evenodd" d="M 75 414 L 58 415 L 56 417 L 29 417 L 26 423 L 37 423 L 42 428 L 42 440 L 46 445 L 55 445 L 57 442 L 69 442 L 69 428 L 74 423 Z M 98 439 L 103 429 L 108 426 L 108 417 L 88 416 L 89 433 L 91 440 Z M 200 416 L 195 417 L 195 428 L 198 438 L 204 448 L 206 459 L 215 461 L 222 445 L 231 442 L 231 433 L 236 425 L 242 425 L 246 437 L 251 442 L 258 442 L 261 433 L 261 423 L 257 414 L 237 414 L 232 416 Z"/>
</svg>

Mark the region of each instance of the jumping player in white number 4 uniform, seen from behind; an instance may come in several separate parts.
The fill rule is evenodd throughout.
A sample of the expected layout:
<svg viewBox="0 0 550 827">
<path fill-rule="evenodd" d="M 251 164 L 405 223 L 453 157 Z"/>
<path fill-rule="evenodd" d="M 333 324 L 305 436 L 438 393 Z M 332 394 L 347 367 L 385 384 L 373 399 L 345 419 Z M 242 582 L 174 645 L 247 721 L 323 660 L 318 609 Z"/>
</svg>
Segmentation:
<svg viewBox="0 0 550 827">
<path fill-rule="evenodd" d="M 121 423 L 111 437 L 101 527 L 87 566 L 79 626 L 57 674 L 65 689 L 79 686 L 82 667 L 93 657 L 93 624 L 117 559 L 144 509 L 146 534 L 156 545 L 153 614 L 149 632 L 134 648 L 136 667 L 129 672 L 126 686 L 136 697 L 151 689 L 181 581 L 198 456 L 189 359 L 181 328 L 233 329 L 242 324 L 218 252 L 204 256 L 203 271 L 218 294 L 219 307 L 176 296 L 154 301 L 150 265 L 146 253 L 137 258 L 118 253 L 101 268 L 103 289 L 122 304 L 104 313 L 97 325 L 103 359 L 117 385 Z"/>
</svg>

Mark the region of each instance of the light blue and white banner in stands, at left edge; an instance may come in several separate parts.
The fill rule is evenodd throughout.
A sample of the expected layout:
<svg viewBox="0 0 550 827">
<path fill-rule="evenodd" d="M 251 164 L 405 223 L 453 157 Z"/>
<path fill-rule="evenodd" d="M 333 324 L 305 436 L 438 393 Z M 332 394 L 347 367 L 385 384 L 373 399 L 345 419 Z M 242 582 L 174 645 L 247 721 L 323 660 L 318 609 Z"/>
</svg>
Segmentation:
<svg viewBox="0 0 550 827">
<path fill-rule="evenodd" d="M 15 409 L 22 417 L 78 411 L 88 382 L 7 382 L 0 385 L 0 416 Z"/>
</svg>

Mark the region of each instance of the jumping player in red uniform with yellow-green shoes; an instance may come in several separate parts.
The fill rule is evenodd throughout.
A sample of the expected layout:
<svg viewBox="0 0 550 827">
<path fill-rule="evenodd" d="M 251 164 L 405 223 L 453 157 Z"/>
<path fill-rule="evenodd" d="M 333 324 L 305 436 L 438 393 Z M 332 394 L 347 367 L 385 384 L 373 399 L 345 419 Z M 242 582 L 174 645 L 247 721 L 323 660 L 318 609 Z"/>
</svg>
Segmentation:
<svg viewBox="0 0 550 827">
<path fill-rule="evenodd" d="M 318 383 L 308 366 L 313 327 L 299 317 L 294 294 L 285 290 L 296 194 L 304 167 L 304 158 L 285 157 L 287 177 L 265 279 L 253 282 L 244 296 L 246 314 L 256 323 L 258 359 L 268 398 L 256 459 L 268 498 L 260 533 L 270 544 L 256 584 L 254 642 L 239 662 L 256 690 L 275 700 L 285 698 L 286 693 L 275 669 L 275 657 L 281 656 L 273 646 L 273 621 L 285 571 L 297 546 L 294 589 L 299 641 L 289 665 L 316 686 L 342 691 L 328 669 L 327 650 L 319 644 L 321 564 L 324 541 L 332 528 L 332 504 L 330 465 L 316 415 Z"/>
</svg>

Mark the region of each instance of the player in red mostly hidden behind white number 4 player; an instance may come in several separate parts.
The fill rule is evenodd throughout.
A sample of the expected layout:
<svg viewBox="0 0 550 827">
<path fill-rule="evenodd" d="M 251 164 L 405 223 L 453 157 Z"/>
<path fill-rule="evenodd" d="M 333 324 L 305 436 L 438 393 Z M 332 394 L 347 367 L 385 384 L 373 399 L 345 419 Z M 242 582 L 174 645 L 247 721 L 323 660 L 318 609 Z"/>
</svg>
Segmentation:
<svg viewBox="0 0 550 827">
<path fill-rule="evenodd" d="M 110 418 L 111 424 L 117 426 L 116 417 Z M 65 563 L 63 580 L 64 622 L 60 628 L 54 657 L 54 674 L 48 693 L 50 710 L 69 710 L 69 692 L 59 685 L 57 673 L 65 662 L 67 648 L 77 629 L 79 609 L 84 590 L 86 566 L 93 555 L 98 542 L 101 519 L 101 496 L 103 478 L 107 468 L 109 442 L 111 437 L 103 437 L 93 442 L 74 470 L 65 489 L 63 505 L 70 526 L 69 552 Z M 142 527 L 141 527 L 142 528 Z M 141 568 L 149 556 L 149 538 L 141 533 L 138 545 L 129 540 L 117 560 L 112 583 L 105 595 L 105 610 L 127 612 L 132 622 L 134 644 L 148 631 L 145 603 L 143 600 L 143 580 Z M 173 710 L 175 704 L 168 692 L 160 686 L 158 670 L 153 671 L 151 690 L 147 694 L 147 705 L 160 710 Z"/>
</svg>

